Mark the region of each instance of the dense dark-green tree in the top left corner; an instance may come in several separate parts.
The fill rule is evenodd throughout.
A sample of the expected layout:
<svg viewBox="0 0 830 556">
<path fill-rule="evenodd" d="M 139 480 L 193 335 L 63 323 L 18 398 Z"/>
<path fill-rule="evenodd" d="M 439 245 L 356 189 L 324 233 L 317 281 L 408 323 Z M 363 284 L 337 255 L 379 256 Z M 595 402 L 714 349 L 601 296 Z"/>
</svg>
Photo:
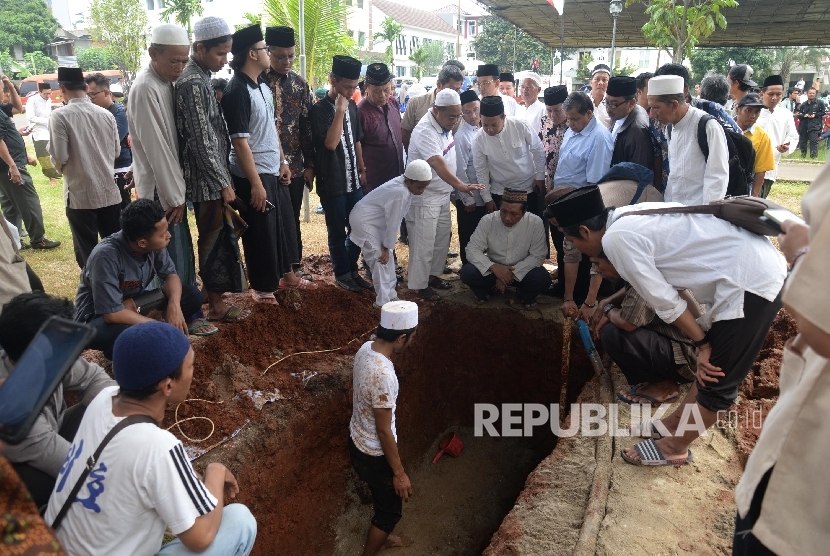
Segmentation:
<svg viewBox="0 0 830 556">
<path fill-rule="evenodd" d="M 58 21 L 43 0 L 3 0 L 0 2 L 0 52 L 22 46 L 24 52 L 37 52 L 55 40 Z"/>
</svg>

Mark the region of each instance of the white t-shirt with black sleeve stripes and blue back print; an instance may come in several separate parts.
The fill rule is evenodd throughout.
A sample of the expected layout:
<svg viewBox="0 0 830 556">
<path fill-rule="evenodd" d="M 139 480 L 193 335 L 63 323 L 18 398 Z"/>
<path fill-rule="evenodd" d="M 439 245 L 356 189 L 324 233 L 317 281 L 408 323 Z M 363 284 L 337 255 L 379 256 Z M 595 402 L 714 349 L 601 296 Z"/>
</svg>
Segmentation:
<svg viewBox="0 0 830 556">
<path fill-rule="evenodd" d="M 87 459 L 123 419 L 112 414 L 117 393 L 117 386 L 105 388 L 89 404 L 49 499 L 47 523 L 63 507 Z M 182 443 L 153 423 L 138 423 L 104 448 L 57 536 L 70 556 L 152 556 L 161 548 L 165 527 L 174 535 L 187 531 L 216 504 Z"/>
</svg>

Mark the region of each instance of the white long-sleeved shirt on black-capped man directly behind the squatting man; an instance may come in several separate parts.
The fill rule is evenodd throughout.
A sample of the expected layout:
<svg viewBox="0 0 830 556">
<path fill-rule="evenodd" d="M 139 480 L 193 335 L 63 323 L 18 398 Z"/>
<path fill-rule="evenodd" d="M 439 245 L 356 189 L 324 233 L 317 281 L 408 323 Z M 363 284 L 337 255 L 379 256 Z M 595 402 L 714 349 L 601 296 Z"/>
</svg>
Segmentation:
<svg viewBox="0 0 830 556">
<path fill-rule="evenodd" d="M 545 151 L 539 134 L 523 118 L 504 119 L 504 128 L 494 136 L 484 131 L 473 138 L 473 164 L 478 183 L 484 186 L 485 203 L 505 188 L 531 191 L 535 180 L 545 179 Z"/>
</svg>

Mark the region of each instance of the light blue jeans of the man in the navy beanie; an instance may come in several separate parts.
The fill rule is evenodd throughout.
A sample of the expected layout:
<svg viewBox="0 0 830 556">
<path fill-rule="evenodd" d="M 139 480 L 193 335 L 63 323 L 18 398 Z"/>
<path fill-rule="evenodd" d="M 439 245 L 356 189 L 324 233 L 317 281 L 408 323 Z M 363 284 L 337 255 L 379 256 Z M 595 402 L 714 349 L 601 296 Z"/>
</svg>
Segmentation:
<svg viewBox="0 0 830 556">
<path fill-rule="evenodd" d="M 221 504 L 222 501 L 220 500 Z M 193 552 L 179 539 L 161 547 L 156 556 L 247 556 L 256 540 L 256 519 L 243 504 L 228 504 L 222 510 L 222 523 L 213 542 L 204 552 Z"/>
</svg>

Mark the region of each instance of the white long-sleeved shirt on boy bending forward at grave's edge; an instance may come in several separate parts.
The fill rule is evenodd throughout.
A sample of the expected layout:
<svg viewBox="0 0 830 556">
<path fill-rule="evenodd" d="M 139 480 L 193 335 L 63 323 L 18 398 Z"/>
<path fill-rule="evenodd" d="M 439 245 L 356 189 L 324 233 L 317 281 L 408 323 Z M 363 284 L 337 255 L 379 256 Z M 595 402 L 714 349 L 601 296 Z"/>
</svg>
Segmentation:
<svg viewBox="0 0 830 556">
<path fill-rule="evenodd" d="M 380 242 L 376 247 L 393 249 L 401 227 L 401 218 L 409 212 L 412 193 L 398 176 L 366 194 L 349 213 L 352 231 L 349 237 L 356 245 Z"/>
</svg>

